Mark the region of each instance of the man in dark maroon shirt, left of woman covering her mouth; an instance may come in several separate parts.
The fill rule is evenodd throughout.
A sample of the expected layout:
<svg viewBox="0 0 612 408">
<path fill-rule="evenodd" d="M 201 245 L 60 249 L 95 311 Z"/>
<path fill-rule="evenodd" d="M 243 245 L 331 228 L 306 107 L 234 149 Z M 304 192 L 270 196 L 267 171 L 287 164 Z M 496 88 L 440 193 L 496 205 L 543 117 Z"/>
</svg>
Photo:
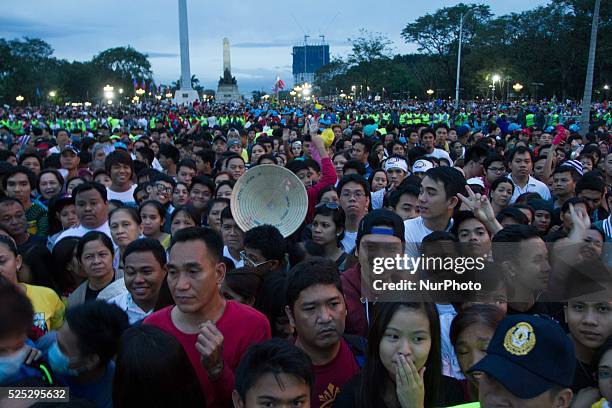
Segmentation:
<svg viewBox="0 0 612 408">
<path fill-rule="evenodd" d="M 315 374 L 311 406 L 331 407 L 359 372 L 343 338 L 346 305 L 340 275 L 333 261 L 315 257 L 291 269 L 288 282 L 285 311 L 297 333 L 295 345 L 308 354 Z"/>
</svg>

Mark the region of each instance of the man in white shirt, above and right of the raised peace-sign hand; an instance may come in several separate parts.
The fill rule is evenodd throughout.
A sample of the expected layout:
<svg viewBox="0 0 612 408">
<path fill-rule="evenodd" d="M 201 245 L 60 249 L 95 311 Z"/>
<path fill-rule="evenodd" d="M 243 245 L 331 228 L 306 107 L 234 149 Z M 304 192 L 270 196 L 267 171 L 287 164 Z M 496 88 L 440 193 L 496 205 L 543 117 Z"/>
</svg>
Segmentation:
<svg viewBox="0 0 612 408">
<path fill-rule="evenodd" d="M 519 146 L 510 152 L 508 157 L 510 175 L 508 179 L 514 184 L 514 193 L 510 198 L 510 204 L 524 193 L 538 193 L 544 200 L 552 198 L 548 186 L 541 181 L 531 177 L 533 170 L 533 153 L 524 146 Z"/>
</svg>

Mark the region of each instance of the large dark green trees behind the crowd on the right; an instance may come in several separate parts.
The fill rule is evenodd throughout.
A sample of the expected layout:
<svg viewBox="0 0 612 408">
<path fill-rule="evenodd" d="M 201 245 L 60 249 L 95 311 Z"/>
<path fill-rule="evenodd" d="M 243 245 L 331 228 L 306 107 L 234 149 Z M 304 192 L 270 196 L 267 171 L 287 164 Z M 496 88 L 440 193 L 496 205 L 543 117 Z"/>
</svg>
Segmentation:
<svg viewBox="0 0 612 408">
<path fill-rule="evenodd" d="M 485 4 L 460 3 L 417 17 L 402 30 L 417 53 L 391 57 L 391 42 L 361 31 L 351 40 L 352 53 L 335 58 L 315 77 L 323 94 L 350 93 L 370 86 L 389 96 L 424 97 L 429 88 L 454 97 L 459 23 L 464 16 L 461 96 L 483 97 L 492 74 L 501 76 L 497 95 L 524 85 L 524 96 L 581 98 L 586 75 L 594 0 L 550 1 L 521 13 L 493 16 Z M 393 67 L 387 64 L 392 64 Z M 602 2 L 595 62 L 594 98 L 612 82 L 612 2 Z M 534 84 L 543 84 L 534 85 Z M 599 96 L 598 96 L 599 95 Z"/>
</svg>

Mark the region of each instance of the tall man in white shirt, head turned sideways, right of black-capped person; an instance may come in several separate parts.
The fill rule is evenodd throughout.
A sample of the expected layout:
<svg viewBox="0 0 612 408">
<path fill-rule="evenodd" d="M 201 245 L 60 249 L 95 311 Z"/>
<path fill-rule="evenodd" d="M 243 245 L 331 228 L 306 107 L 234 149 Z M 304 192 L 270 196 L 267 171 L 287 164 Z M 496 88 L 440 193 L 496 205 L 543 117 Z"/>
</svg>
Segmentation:
<svg viewBox="0 0 612 408">
<path fill-rule="evenodd" d="M 460 205 L 457 194 L 465 194 L 465 178 L 453 167 L 435 167 L 425 173 L 418 206 L 420 216 L 404 221 L 406 254 L 420 255 L 423 238 L 434 231 L 448 231 L 453 211 Z"/>
</svg>

